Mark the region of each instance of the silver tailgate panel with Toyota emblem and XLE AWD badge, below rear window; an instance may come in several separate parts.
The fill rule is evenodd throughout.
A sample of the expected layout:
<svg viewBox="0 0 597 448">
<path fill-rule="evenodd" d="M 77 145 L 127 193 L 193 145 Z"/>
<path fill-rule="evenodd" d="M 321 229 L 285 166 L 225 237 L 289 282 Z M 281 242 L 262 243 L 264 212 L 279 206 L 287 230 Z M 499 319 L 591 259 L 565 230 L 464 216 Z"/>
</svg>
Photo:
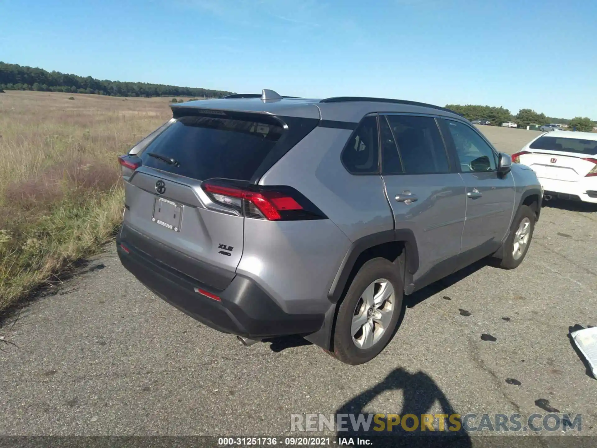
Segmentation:
<svg viewBox="0 0 597 448">
<path fill-rule="evenodd" d="M 155 191 L 156 183 L 163 183 L 163 194 Z M 241 259 L 243 218 L 208 210 L 197 191 L 167 173 L 137 170 L 125 182 L 122 239 L 201 283 L 225 289 Z"/>
</svg>

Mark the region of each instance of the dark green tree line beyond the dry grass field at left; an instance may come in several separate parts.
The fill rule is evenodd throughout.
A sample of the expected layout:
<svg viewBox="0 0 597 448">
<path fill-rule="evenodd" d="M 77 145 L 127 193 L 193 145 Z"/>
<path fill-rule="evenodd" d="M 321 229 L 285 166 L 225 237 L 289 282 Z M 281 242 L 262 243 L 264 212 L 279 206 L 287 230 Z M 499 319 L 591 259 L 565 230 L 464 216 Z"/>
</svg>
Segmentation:
<svg viewBox="0 0 597 448">
<path fill-rule="evenodd" d="M 109 96 L 193 96 L 222 98 L 233 92 L 177 85 L 121 82 L 48 72 L 38 67 L 0 62 L 0 90 L 37 90 L 66 93 L 94 93 Z"/>
</svg>

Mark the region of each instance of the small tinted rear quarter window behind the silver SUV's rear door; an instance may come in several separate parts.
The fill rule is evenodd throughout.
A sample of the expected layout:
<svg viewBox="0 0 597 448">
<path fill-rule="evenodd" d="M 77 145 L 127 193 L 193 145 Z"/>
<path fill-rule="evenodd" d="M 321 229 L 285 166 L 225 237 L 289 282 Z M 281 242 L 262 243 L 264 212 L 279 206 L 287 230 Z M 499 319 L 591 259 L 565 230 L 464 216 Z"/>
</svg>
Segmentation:
<svg viewBox="0 0 597 448">
<path fill-rule="evenodd" d="M 377 118 L 367 116 L 350 137 L 344 151 L 342 163 L 353 174 L 379 172 L 379 142 Z"/>
</svg>

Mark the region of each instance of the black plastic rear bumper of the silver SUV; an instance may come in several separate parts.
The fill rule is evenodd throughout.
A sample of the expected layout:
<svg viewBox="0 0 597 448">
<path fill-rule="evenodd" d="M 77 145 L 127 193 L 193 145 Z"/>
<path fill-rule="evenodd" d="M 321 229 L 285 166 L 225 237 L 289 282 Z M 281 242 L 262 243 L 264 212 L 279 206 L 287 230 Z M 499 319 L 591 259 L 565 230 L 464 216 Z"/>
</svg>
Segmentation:
<svg viewBox="0 0 597 448">
<path fill-rule="evenodd" d="M 126 250 L 125 250 L 125 248 Z M 226 289 L 216 290 L 116 238 L 122 265 L 147 289 L 199 322 L 223 333 L 251 339 L 306 335 L 319 330 L 324 314 L 288 314 L 253 280 L 236 275 Z M 220 301 L 195 292 L 215 294 Z"/>
</svg>

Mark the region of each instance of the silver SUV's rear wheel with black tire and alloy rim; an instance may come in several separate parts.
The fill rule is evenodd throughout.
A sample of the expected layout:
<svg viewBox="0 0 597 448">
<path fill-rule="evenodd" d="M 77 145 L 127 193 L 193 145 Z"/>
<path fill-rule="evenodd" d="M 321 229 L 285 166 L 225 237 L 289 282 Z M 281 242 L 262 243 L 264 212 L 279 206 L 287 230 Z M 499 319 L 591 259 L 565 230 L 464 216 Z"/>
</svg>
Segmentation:
<svg viewBox="0 0 597 448">
<path fill-rule="evenodd" d="M 338 307 L 330 355 L 356 366 L 380 354 L 395 333 L 403 294 L 398 266 L 384 258 L 366 262 Z"/>
</svg>

